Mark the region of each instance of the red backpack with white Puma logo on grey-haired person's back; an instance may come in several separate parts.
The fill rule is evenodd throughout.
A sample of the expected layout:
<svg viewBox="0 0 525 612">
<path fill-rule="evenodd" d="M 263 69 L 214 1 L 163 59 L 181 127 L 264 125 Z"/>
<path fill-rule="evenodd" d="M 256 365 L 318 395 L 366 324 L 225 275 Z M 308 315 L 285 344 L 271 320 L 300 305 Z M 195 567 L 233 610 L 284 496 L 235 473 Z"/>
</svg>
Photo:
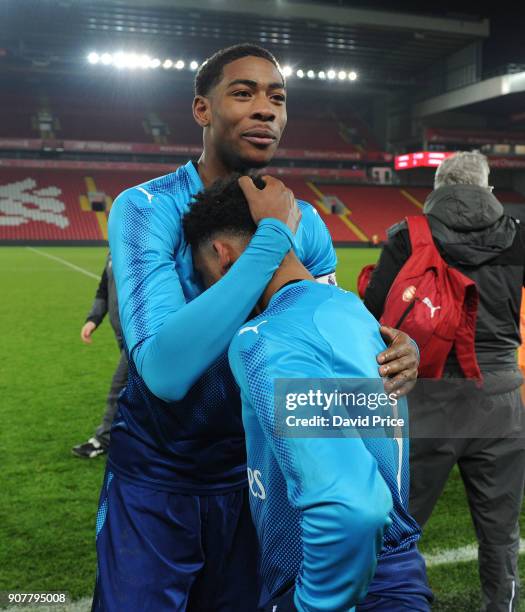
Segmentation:
<svg viewBox="0 0 525 612">
<path fill-rule="evenodd" d="M 407 217 L 406 221 L 412 255 L 390 287 L 381 323 L 401 329 L 417 342 L 421 378 L 441 378 L 455 348 L 464 376 L 481 384 L 474 346 L 476 283 L 443 260 L 426 217 Z"/>
</svg>

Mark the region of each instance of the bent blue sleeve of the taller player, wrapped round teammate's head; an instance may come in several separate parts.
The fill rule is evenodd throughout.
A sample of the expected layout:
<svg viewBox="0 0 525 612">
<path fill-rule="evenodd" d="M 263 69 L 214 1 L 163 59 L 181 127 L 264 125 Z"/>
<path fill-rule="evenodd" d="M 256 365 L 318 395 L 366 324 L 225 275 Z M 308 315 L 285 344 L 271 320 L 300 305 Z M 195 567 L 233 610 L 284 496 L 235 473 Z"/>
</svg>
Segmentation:
<svg viewBox="0 0 525 612">
<path fill-rule="evenodd" d="M 130 356 L 152 393 L 176 401 L 227 349 L 294 238 L 264 219 L 228 274 L 190 303 L 175 269 L 182 228 L 169 199 L 152 204 L 125 191 L 111 210 L 109 242 Z"/>
</svg>

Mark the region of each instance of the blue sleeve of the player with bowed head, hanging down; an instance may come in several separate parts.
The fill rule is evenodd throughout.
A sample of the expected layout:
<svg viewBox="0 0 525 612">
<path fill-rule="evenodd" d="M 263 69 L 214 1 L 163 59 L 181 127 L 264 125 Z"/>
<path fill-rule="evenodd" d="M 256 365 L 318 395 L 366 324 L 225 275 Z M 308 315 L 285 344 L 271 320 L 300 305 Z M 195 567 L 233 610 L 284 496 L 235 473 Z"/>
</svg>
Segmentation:
<svg viewBox="0 0 525 612">
<path fill-rule="evenodd" d="M 391 524 L 390 491 L 359 437 L 276 435 L 274 380 L 333 374 L 315 356 L 263 339 L 264 346 L 257 346 L 261 357 L 248 371 L 242 358 L 250 350 L 247 336 L 233 340 L 230 365 L 243 403 L 255 410 L 286 479 L 289 502 L 302 514 L 303 565 L 295 605 L 305 612 L 348 610 L 365 597 L 374 576 L 383 534 Z"/>
</svg>

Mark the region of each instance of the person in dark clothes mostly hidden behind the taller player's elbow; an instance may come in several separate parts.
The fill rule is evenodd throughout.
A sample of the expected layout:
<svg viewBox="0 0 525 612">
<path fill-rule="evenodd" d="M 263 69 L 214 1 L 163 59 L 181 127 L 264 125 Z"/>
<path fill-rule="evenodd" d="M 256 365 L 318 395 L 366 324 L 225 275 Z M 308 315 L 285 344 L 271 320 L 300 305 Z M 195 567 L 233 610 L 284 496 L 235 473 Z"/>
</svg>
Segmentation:
<svg viewBox="0 0 525 612">
<path fill-rule="evenodd" d="M 109 432 L 117 410 L 117 399 L 128 380 L 128 360 L 123 348 L 122 330 L 118 314 L 117 292 L 110 254 L 108 254 L 106 259 L 106 265 L 104 266 L 104 271 L 100 278 L 93 305 L 80 331 L 80 338 L 83 342 L 91 344 L 93 332 L 102 323 L 104 317 L 108 313 L 109 321 L 115 332 L 115 338 L 120 349 L 120 360 L 113 374 L 113 379 L 111 380 L 111 386 L 106 400 L 106 411 L 102 418 L 102 422 L 95 430 L 94 435 L 89 438 L 87 442 L 74 446 L 71 449 L 75 455 L 86 459 L 93 459 L 94 457 L 98 457 L 98 455 L 107 453 L 109 447 Z"/>
</svg>

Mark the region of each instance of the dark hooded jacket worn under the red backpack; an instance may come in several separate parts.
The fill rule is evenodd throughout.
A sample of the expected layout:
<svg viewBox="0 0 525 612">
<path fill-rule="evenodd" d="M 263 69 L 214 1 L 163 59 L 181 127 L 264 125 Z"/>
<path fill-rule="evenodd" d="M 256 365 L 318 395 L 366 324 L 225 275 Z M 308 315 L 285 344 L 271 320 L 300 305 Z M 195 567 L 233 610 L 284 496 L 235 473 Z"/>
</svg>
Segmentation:
<svg viewBox="0 0 525 612">
<path fill-rule="evenodd" d="M 447 185 L 434 190 L 423 213 L 441 256 L 475 281 L 479 292 L 476 355 L 484 374 L 517 371 L 521 289 L 524 284 L 525 231 L 483 187 Z M 410 257 L 406 221 L 388 230 L 365 295 L 365 305 L 380 318 L 388 291 Z M 459 371 L 454 354 L 447 368 Z M 511 376 L 512 378 L 512 376 Z M 513 377 L 518 386 L 519 376 Z"/>
</svg>

